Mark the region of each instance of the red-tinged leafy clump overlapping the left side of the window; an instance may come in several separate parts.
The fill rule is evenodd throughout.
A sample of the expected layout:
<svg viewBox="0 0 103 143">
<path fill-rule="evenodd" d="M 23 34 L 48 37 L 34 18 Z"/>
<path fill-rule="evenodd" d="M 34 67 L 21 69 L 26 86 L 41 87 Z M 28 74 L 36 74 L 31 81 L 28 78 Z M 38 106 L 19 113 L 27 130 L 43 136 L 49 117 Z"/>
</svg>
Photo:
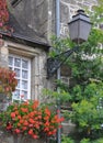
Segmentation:
<svg viewBox="0 0 103 143">
<path fill-rule="evenodd" d="M 5 95 L 15 90 L 18 80 L 15 79 L 15 73 L 0 67 L 0 92 Z"/>
</svg>

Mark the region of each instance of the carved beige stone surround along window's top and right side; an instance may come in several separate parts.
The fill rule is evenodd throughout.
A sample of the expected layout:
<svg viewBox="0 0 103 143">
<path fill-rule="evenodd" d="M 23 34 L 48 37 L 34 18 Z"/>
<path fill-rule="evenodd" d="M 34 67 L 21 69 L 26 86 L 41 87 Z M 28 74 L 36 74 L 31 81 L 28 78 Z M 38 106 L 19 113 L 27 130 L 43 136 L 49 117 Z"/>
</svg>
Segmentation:
<svg viewBox="0 0 103 143">
<path fill-rule="evenodd" d="M 47 81 L 46 61 L 47 53 L 44 48 L 28 46 L 21 43 L 4 41 L 9 54 L 25 56 L 31 58 L 31 100 L 41 100 L 43 88 L 50 88 Z"/>
</svg>

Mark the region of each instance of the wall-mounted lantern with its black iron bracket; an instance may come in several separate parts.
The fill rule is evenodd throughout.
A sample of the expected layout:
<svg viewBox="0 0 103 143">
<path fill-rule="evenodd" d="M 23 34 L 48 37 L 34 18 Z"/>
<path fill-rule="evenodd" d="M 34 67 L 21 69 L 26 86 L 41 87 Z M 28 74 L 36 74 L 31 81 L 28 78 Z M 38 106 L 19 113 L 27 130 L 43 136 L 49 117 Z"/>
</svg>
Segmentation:
<svg viewBox="0 0 103 143">
<path fill-rule="evenodd" d="M 77 14 L 72 16 L 72 20 L 68 23 L 68 25 L 70 38 L 72 42 L 76 42 L 78 46 L 88 40 L 92 24 L 90 22 L 90 18 L 84 13 L 83 10 L 78 10 Z M 67 52 L 64 52 L 54 58 L 49 57 L 47 59 L 47 78 L 50 78 L 55 74 L 55 72 L 65 63 L 65 61 L 75 51 L 77 51 L 77 47 L 72 47 L 71 50 L 68 50 Z M 61 56 L 65 58 L 61 59 Z"/>
</svg>

